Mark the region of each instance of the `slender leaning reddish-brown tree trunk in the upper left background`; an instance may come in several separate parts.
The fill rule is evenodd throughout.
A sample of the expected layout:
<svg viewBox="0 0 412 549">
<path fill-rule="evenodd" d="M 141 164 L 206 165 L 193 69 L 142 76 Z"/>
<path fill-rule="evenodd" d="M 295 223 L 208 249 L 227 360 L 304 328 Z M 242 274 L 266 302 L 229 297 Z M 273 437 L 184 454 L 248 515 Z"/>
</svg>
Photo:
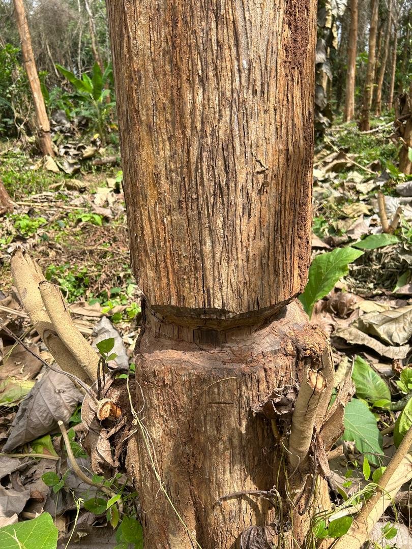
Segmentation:
<svg viewBox="0 0 412 549">
<path fill-rule="evenodd" d="M 27 24 L 23 0 L 13 0 L 16 14 L 17 27 L 21 41 L 21 53 L 23 54 L 24 66 L 29 79 L 31 95 L 36 113 L 37 137 L 40 150 L 43 155 L 53 156 L 52 139 L 50 136 L 50 124 L 47 117 L 46 105 L 44 105 L 43 94 L 38 79 L 36 62 L 31 47 L 29 25 Z"/>
</svg>

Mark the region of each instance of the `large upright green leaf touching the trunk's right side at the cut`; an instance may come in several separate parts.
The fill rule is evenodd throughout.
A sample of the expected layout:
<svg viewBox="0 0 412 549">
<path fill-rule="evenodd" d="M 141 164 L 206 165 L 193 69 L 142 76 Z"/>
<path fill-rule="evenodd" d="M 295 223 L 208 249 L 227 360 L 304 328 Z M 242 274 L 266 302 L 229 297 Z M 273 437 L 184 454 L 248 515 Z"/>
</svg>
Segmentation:
<svg viewBox="0 0 412 549">
<path fill-rule="evenodd" d="M 305 311 L 312 314 L 316 301 L 329 294 L 336 282 L 349 272 L 348 265 L 363 255 L 354 248 L 336 248 L 315 257 L 309 267 L 309 280 L 305 291 L 299 296 Z"/>
</svg>

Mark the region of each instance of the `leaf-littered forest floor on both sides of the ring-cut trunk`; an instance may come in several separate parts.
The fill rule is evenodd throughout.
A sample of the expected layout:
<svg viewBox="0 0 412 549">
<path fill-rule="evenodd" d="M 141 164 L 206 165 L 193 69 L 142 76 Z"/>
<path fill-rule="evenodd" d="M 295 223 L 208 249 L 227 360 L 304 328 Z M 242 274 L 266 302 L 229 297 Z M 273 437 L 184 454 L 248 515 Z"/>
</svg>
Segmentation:
<svg viewBox="0 0 412 549">
<path fill-rule="evenodd" d="M 315 148 L 313 256 L 349 245 L 363 252 L 349 265 L 347 275 L 314 304 L 311 314 L 311 322 L 331 335 L 338 370 L 352 367 L 357 387 L 352 401 L 355 406 L 345 423 L 344 454 L 331 462 L 330 486 L 337 507 L 353 501 L 372 473 L 374 480 L 378 478 L 380 465 L 393 455 L 394 438 L 396 444 L 405 428 L 399 420 L 402 410 L 408 411 L 409 406 L 412 412 L 407 404 L 412 394 L 412 368 L 408 367 L 412 349 L 412 178 L 396 168 L 397 144 L 392 134 L 390 117 L 374 119 L 369 133 L 360 133 L 355 124 L 337 124 Z M 83 335 L 94 343 L 114 337 L 118 364 L 129 363 L 133 370 L 132 353 L 141 320 L 140 292 L 130 269 L 120 168 L 94 166 L 86 158 L 73 175 L 59 167 L 51 169 L 56 166 L 31 158 L 18 144 L 0 143 L 0 180 L 15 203 L 13 212 L 0 218 L 0 320 L 49 358 L 31 330 L 10 275 L 10 254 L 21 245 L 30 251 L 46 278 L 62 289 Z M 402 208 L 395 234 L 382 234 L 376 198 L 379 190 L 385 195 L 389 220 L 399 206 Z M 108 498 L 96 498 L 97 488 L 81 483 L 69 472 L 55 421 L 59 403 L 53 407 L 49 402 L 59 392 L 60 383 L 69 391 L 67 378 L 59 374 L 58 379 L 47 380 L 51 372 L 44 372 L 40 361 L 15 345 L 2 329 L 0 338 L 0 444 L 8 439 L 7 451 L 0 454 L 0 499 L 15 496 L 8 499 L 0 525 L 47 511 L 54 517 L 64 546 L 75 521 L 76 500 L 81 497 L 86 504 L 79 503 L 82 510 L 76 520 L 76 539 L 87 534 L 82 547 L 97 543 L 113 547 L 118 503 L 107 512 Z M 65 419 L 77 460 L 92 477 L 81 448 L 79 396 L 71 385 Z M 31 456 L 34 453 L 43 458 Z M 369 473 L 368 467 L 372 469 Z M 127 497 L 130 489 L 119 488 L 123 480 L 113 482 L 133 517 L 137 511 L 132 498 Z M 407 546 L 409 515 L 406 487 L 377 529 L 376 542 Z M 395 533 L 387 523 L 395 524 Z M 118 529 L 117 543 L 124 541 L 122 535 Z"/>
</svg>

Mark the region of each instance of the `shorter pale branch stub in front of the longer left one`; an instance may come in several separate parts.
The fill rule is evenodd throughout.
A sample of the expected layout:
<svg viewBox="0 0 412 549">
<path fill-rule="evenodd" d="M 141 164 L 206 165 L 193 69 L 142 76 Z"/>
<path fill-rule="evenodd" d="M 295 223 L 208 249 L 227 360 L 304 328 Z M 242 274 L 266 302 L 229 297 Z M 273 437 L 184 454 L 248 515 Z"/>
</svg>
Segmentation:
<svg viewBox="0 0 412 549">
<path fill-rule="evenodd" d="M 88 374 L 88 377 L 96 380 L 99 356 L 76 328 L 66 309 L 60 290 L 52 282 L 46 280 L 41 281 L 38 288 L 44 307 L 46 307 L 59 338 L 73 354 L 79 366 Z"/>
</svg>

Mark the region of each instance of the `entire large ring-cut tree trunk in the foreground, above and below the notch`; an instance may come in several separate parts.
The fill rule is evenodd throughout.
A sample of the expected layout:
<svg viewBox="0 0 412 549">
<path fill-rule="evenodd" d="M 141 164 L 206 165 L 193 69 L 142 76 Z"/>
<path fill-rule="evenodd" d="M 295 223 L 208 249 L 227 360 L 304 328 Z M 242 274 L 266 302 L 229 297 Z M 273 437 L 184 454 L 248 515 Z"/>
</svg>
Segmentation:
<svg viewBox="0 0 412 549">
<path fill-rule="evenodd" d="M 135 402 L 145 430 L 126 463 L 145 544 L 233 549 L 255 526 L 292 547 L 309 515 L 289 507 L 285 479 L 309 479 L 304 511 L 316 473 L 288 477 L 279 424 L 255 412 L 321 368 L 326 348 L 294 301 L 310 261 L 316 6 L 107 5 L 146 304 Z M 319 510 L 329 499 L 316 486 Z"/>
</svg>

